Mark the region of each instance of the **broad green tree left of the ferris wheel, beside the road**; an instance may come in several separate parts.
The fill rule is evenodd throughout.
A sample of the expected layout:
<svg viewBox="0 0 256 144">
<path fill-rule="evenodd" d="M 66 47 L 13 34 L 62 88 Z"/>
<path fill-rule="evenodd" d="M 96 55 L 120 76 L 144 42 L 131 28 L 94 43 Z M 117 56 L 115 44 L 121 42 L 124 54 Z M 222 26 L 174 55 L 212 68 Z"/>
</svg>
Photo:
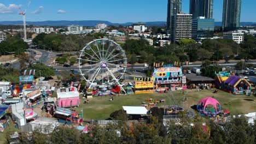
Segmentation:
<svg viewBox="0 0 256 144">
<path fill-rule="evenodd" d="M 30 67 L 28 67 L 28 70 L 36 70 L 35 77 L 43 76 L 46 79 L 54 76 L 55 74 L 53 68 L 48 67 L 42 63 L 30 65 Z"/>
</svg>

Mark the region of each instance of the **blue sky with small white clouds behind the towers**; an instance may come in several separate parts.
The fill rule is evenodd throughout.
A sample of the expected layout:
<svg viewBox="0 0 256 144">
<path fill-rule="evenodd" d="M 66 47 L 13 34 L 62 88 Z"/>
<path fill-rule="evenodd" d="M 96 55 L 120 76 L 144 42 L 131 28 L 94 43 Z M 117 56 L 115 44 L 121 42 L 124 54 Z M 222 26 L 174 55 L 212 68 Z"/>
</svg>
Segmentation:
<svg viewBox="0 0 256 144">
<path fill-rule="evenodd" d="M 0 21 L 18 21 L 19 7 L 29 0 L 1 0 Z M 256 1 L 242 0 L 241 21 L 256 22 Z M 213 17 L 222 21 L 223 0 L 214 0 Z M 167 0 L 32 0 L 27 21 L 106 20 L 110 22 L 166 21 Z M 182 1 L 182 11 L 189 13 L 189 0 Z"/>
</svg>

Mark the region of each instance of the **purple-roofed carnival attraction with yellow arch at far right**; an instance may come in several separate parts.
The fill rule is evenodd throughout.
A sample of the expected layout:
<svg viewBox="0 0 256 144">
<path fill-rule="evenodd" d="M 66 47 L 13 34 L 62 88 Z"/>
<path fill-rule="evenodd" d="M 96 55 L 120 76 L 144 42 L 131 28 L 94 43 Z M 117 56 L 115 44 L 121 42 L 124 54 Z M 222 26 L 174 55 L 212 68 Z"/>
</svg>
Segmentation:
<svg viewBox="0 0 256 144">
<path fill-rule="evenodd" d="M 232 94 L 251 94 L 251 83 L 240 76 L 231 75 L 220 87 L 223 91 Z"/>
</svg>

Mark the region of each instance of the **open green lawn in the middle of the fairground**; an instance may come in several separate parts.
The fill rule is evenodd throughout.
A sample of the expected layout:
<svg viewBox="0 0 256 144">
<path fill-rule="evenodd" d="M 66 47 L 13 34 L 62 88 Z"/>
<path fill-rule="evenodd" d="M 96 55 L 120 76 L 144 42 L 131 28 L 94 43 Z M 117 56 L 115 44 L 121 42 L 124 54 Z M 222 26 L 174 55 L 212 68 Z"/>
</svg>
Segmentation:
<svg viewBox="0 0 256 144">
<path fill-rule="evenodd" d="M 187 90 L 188 92 L 188 101 L 184 103 L 184 106 L 193 106 L 196 105 L 199 100 L 205 97 L 216 98 L 222 109 L 230 110 L 232 115 L 238 113 L 248 113 L 256 111 L 256 97 L 248 97 L 246 95 L 232 95 L 223 91 L 219 91 L 218 94 L 214 94 L 212 90 L 203 90 L 201 92 L 197 92 L 195 89 Z M 181 98 L 180 91 L 172 92 L 174 95 L 174 99 Z M 96 97 L 89 100 L 89 104 L 83 104 L 83 99 L 81 97 L 81 103 L 76 110 L 80 112 L 83 109 L 84 118 L 86 120 L 89 119 L 106 119 L 109 117 L 110 113 L 115 110 L 122 109 L 122 106 L 142 106 L 142 102 L 146 101 L 148 98 L 152 99 L 165 99 L 166 104 L 173 105 L 171 102 L 172 96 L 171 93 L 167 93 L 168 97 L 165 96 L 165 93 L 146 93 L 146 94 L 132 94 L 132 95 L 120 95 L 115 96 L 113 101 L 109 101 L 109 97 Z M 248 101 L 245 99 L 252 99 L 254 101 Z M 179 100 L 178 100 L 179 101 Z M 230 105 L 227 105 L 230 101 Z M 148 104 L 148 102 L 146 103 Z M 159 103 L 158 106 L 163 106 L 164 103 Z"/>
</svg>

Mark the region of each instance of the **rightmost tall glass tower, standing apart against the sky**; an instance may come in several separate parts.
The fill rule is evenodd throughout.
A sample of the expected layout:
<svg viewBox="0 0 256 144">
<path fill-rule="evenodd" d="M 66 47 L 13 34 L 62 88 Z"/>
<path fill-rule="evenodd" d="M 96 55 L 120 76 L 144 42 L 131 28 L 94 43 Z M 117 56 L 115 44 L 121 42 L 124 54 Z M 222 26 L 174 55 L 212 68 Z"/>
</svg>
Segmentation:
<svg viewBox="0 0 256 144">
<path fill-rule="evenodd" d="M 240 27 L 242 0 L 223 0 L 222 28 L 224 31 Z"/>
</svg>

